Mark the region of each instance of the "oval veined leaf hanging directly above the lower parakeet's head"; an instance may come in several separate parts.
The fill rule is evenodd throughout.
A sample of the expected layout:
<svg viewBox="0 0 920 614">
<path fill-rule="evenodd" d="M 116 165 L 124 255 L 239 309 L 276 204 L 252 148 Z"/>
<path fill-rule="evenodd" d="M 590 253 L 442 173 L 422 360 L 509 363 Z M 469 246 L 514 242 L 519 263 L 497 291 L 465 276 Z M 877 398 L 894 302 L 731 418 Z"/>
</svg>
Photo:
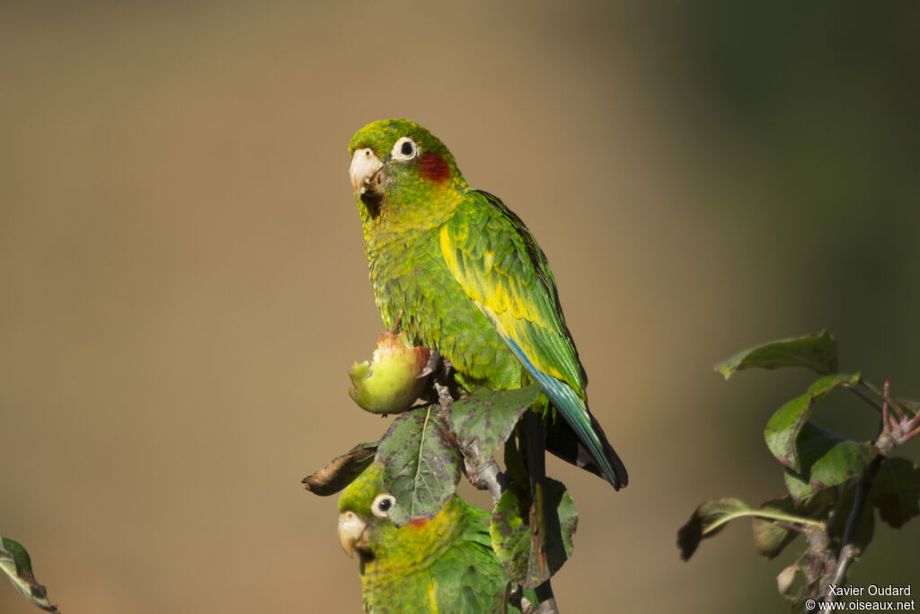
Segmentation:
<svg viewBox="0 0 920 614">
<path fill-rule="evenodd" d="M 400 415 L 377 447 L 385 464 L 384 482 L 397 499 L 390 519 L 401 527 L 414 518 L 431 518 L 460 480 L 460 450 L 447 421 L 435 406 Z"/>
</svg>

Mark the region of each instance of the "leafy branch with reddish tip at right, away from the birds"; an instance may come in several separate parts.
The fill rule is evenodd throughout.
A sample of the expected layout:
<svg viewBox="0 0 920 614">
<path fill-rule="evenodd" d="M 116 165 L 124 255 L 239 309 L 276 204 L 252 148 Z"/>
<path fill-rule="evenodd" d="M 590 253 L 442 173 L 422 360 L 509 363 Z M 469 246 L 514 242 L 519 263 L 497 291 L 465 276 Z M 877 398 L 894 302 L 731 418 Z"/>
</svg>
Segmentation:
<svg viewBox="0 0 920 614">
<path fill-rule="evenodd" d="M 745 350 L 716 370 L 728 379 L 743 369 L 787 366 L 805 366 L 821 376 L 766 423 L 766 446 L 782 466 L 788 493 L 759 507 L 734 498 L 700 504 L 678 531 L 677 544 L 687 560 L 701 539 L 741 517 L 753 519 L 754 547 L 767 559 L 803 535 L 804 548 L 776 578 L 780 594 L 791 602 L 789 611 L 799 612 L 810 600 L 834 601 L 832 588 L 844 583 L 850 564 L 872 539 L 876 513 L 894 528 L 920 515 L 920 468 L 891 456 L 894 447 L 920 434 L 920 406 L 892 397 L 887 378 L 878 387 L 859 373 L 839 373 L 836 342 L 826 331 Z M 811 421 L 815 404 L 836 388 L 878 413 L 879 430 L 866 441 Z"/>
</svg>

